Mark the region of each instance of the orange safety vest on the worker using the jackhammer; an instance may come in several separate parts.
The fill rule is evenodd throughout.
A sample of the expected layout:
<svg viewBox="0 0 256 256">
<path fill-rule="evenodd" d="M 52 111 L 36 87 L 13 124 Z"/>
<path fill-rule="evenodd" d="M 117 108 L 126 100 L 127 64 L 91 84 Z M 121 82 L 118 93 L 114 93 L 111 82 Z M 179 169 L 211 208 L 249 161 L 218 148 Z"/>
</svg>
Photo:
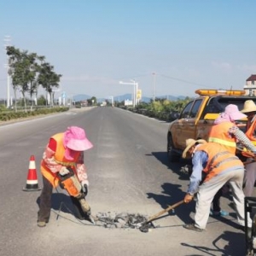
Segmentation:
<svg viewBox="0 0 256 256">
<path fill-rule="evenodd" d="M 70 167 L 72 167 L 73 171 L 75 173 L 77 173 L 75 166 L 76 166 L 77 160 L 79 160 L 79 154 L 80 153 L 77 152 L 77 154 L 75 154 L 73 161 L 67 160 L 65 158 L 65 156 L 64 156 L 65 147 L 64 147 L 64 144 L 63 144 L 63 134 L 64 134 L 63 132 L 62 133 L 57 133 L 53 137 L 51 137 L 57 143 L 56 150 L 55 150 L 55 155 L 54 155 L 55 162 L 60 164 L 61 166 L 70 166 Z M 60 179 L 59 179 L 57 173 L 51 172 L 49 170 L 49 168 L 46 166 L 44 160 L 41 161 L 41 172 L 42 172 L 42 175 L 45 178 L 47 178 L 49 180 L 49 182 L 54 187 L 57 187 L 59 185 Z"/>
</svg>

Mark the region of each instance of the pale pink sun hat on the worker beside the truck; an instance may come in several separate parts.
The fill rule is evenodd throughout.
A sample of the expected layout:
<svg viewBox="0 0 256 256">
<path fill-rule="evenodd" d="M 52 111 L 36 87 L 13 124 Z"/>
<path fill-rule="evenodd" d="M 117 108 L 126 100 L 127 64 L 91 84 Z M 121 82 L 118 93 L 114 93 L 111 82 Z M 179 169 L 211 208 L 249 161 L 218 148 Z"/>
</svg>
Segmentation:
<svg viewBox="0 0 256 256">
<path fill-rule="evenodd" d="M 227 121 L 233 122 L 245 118 L 247 118 L 246 114 L 241 113 L 236 105 L 230 104 L 226 106 L 224 113 L 220 113 L 219 117 L 215 119 L 214 124 L 217 125 Z"/>
</svg>

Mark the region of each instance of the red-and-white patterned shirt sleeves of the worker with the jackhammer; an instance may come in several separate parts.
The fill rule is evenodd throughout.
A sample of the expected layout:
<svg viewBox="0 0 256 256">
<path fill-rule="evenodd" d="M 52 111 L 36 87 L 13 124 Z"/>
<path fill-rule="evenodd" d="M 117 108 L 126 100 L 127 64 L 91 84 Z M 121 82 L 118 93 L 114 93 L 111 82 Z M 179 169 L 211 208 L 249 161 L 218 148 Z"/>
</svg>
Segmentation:
<svg viewBox="0 0 256 256">
<path fill-rule="evenodd" d="M 63 167 L 61 164 L 55 161 L 55 151 L 57 143 L 55 139 L 50 138 L 49 143 L 46 146 L 43 154 L 43 160 L 50 172 L 60 172 Z M 81 152 L 79 155 L 79 160 L 76 163 L 76 170 L 79 178 L 79 182 L 86 183 L 89 185 L 88 175 L 86 167 L 84 166 L 84 152 Z"/>
</svg>

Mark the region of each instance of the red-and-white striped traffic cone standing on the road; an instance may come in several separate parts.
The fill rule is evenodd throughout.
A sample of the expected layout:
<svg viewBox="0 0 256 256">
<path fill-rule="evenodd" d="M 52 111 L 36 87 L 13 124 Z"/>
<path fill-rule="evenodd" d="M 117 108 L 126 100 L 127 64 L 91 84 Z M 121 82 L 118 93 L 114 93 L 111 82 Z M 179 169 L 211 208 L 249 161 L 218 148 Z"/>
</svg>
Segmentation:
<svg viewBox="0 0 256 256">
<path fill-rule="evenodd" d="M 23 188 L 24 191 L 38 191 L 38 176 L 36 169 L 35 157 L 32 155 L 29 161 L 28 173 L 26 178 L 26 187 Z"/>
</svg>

